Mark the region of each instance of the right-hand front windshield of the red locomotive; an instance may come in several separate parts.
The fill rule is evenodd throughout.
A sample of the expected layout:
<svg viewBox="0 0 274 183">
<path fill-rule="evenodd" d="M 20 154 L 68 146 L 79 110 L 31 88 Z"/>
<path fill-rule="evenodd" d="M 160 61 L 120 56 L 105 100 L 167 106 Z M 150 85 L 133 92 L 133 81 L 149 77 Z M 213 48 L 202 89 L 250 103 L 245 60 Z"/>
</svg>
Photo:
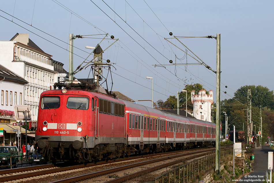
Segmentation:
<svg viewBox="0 0 274 183">
<path fill-rule="evenodd" d="M 89 108 L 89 98 L 69 97 L 67 98 L 67 108 L 87 110 Z"/>
</svg>

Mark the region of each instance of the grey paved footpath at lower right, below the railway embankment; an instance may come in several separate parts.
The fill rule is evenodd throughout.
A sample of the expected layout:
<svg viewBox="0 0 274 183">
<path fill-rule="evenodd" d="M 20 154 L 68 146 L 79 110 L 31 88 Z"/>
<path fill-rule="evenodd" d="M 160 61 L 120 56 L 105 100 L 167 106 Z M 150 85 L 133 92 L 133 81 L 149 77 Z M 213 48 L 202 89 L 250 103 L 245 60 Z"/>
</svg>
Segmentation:
<svg viewBox="0 0 274 183">
<path fill-rule="evenodd" d="M 253 182 L 253 183 L 261 183 L 265 180 L 265 171 L 269 172 L 267 167 L 268 163 L 268 152 L 273 152 L 267 145 L 263 145 L 262 149 L 254 149 L 254 163 L 252 164 L 252 168 L 254 169 L 249 175 L 243 176 L 239 179 L 239 183 L 244 182 Z M 272 174 L 273 176 L 273 174 Z"/>
</svg>

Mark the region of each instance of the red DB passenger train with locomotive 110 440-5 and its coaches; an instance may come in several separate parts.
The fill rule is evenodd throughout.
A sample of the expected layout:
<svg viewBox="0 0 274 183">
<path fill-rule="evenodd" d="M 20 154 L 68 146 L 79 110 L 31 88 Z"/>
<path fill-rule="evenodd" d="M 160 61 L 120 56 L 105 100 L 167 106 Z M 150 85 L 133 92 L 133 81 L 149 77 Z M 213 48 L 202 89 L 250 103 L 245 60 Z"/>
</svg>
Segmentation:
<svg viewBox="0 0 274 183">
<path fill-rule="evenodd" d="M 215 146 L 216 124 L 130 101 L 89 83 L 40 95 L 35 147 L 47 161 L 78 163 L 140 152 Z"/>
</svg>

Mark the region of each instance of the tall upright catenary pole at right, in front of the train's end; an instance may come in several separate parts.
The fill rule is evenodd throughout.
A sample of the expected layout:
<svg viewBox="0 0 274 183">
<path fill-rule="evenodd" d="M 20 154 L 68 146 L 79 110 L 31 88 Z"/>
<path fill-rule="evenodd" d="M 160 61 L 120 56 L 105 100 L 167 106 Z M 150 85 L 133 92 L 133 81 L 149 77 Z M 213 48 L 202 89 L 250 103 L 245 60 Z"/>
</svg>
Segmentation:
<svg viewBox="0 0 274 183">
<path fill-rule="evenodd" d="M 220 82 L 221 82 L 221 34 L 217 34 L 217 71 L 216 71 L 216 156 L 215 172 L 220 174 Z"/>
</svg>

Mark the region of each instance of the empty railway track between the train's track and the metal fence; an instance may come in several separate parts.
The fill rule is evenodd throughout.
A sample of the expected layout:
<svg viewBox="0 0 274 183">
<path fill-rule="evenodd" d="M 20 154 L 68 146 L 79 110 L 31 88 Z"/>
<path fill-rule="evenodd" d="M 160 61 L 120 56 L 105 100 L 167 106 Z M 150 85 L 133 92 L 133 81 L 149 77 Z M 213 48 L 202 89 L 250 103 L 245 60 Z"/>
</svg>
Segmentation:
<svg viewBox="0 0 274 183">
<path fill-rule="evenodd" d="M 132 163 L 129 165 L 124 165 L 120 167 L 115 167 L 111 169 L 106 169 L 102 171 L 92 172 L 89 174 L 84 174 L 80 176 L 75 176 L 71 178 L 65 178 L 62 180 L 53 181 L 50 183 L 65 183 L 65 182 L 105 182 L 105 183 L 117 183 L 130 180 L 132 178 L 138 177 L 143 174 L 156 171 L 171 165 L 181 163 L 183 161 L 194 159 L 206 155 L 206 152 L 210 150 L 202 150 L 196 152 L 188 152 L 179 155 L 172 155 L 168 157 L 157 158 L 153 160 L 143 161 L 139 163 Z M 196 154 L 196 155 L 194 155 Z M 187 157 L 186 157 L 187 156 Z M 182 158 L 183 157 L 183 158 Z"/>
</svg>

